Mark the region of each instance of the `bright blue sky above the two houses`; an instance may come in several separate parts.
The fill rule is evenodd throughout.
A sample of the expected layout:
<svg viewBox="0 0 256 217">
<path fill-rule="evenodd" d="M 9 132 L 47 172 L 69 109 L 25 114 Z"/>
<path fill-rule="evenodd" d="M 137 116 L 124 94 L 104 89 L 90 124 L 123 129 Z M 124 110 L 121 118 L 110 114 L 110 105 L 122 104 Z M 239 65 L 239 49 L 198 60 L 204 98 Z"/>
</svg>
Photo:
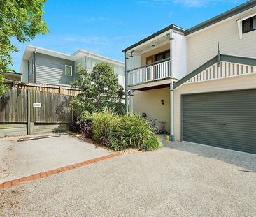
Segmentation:
<svg viewBox="0 0 256 217">
<path fill-rule="evenodd" d="M 88 50 L 123 61 L 122 50 L 169 24 L 185 29 L 234 8 L 244 0 L 48 0 L 44 20 L 50 33 L 13 43 L 17 72 L 26 44 L 72 54 Z"/>
</svg>

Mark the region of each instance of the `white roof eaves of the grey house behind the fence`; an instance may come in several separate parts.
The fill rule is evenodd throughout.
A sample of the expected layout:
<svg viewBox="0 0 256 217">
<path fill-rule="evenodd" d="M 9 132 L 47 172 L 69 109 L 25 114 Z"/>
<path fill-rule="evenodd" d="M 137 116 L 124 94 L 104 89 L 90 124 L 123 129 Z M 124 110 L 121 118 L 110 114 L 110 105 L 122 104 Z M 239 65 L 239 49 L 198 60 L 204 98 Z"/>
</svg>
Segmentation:
<svg viewBox="0 0 256 217">
<path fill-rule="evenodd" d="M 64 54 L 64 53 L 61 53 L 61 52 L 56 52 L 56 51 L 53 51 L 53 50 L 48 50 L 48 49 L 45 49 L 43 47 L 36 47 L 36 46 L 33 46 L 33 45 L 27 45 L 26 46 L 22 59 L 28 60 L 29 57 L 31 56 L 32 52 L 37 52 L 37 53 L 40 53 L 40 54 L 46 54 L 46 55 L 50 55 L 52 57 L 59 57 L 59 58 L 62 58 L 62 59 L 68 59 L 68 60 L 71 60 L 71 61 L 76 61 L 76 60 L 80 59 L 81 57 L 92 57 L 92 59 L 98 59 L 100 61 L 110 62 L 110 63 L 113 63 L 113 64 L 118 65 L 118 66 L 124 66 L 124 63 L 122 61 L 118 61 L 116 59 L 111 59 L 111 58 L 108 58 L 108 57 L 104 57 L 104 56 L 101 56 L 99 54 L 94 54 L 92 52 L 81 50 L 81 49 L 74 52 L 73 54 L 69 55 L 69 54 Z"/>
</svg>

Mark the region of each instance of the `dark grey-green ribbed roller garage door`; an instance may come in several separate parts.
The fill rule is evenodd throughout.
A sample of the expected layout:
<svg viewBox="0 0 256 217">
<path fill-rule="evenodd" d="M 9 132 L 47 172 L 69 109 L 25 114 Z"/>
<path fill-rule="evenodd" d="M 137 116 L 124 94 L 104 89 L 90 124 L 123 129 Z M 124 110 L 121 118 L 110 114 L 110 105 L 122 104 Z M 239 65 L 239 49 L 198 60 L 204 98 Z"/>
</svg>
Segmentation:
<svg viewBox="0 0 256 217">
<path fill-rule="evenodd" d="M 256 154 L 256 90 L 183 96 L 183 140 Z"/>
</svg>

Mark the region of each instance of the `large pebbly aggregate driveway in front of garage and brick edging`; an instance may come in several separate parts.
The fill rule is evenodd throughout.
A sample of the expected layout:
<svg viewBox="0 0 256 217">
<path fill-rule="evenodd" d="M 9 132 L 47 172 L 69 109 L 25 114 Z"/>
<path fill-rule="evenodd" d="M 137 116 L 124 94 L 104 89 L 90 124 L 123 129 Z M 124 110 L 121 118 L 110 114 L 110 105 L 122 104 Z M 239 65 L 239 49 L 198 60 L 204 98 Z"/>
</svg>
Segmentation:
<svg viewBox="0 0 256 217">
<path fill-rule="evenodd" d="M 256 216 L 256 156 L 186 142 L 0 190 L 0 216 Z"/>
</svg>

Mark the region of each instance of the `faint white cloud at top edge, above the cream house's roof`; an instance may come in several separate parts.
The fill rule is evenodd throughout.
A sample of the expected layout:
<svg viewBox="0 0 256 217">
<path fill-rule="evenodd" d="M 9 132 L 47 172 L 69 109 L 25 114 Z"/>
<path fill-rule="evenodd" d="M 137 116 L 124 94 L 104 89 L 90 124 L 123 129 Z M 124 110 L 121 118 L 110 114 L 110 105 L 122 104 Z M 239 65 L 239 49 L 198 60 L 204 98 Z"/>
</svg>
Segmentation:
<svg viewBox="0 0 256 217">
<path fill-rule="evenodd" d="M 209 3 L 238 3 L 240 0 L 173 0 L 173 3 L 180 3 L 183 6 L 190 8 L 199 8 L 208 5 Z"/>
</svg>

